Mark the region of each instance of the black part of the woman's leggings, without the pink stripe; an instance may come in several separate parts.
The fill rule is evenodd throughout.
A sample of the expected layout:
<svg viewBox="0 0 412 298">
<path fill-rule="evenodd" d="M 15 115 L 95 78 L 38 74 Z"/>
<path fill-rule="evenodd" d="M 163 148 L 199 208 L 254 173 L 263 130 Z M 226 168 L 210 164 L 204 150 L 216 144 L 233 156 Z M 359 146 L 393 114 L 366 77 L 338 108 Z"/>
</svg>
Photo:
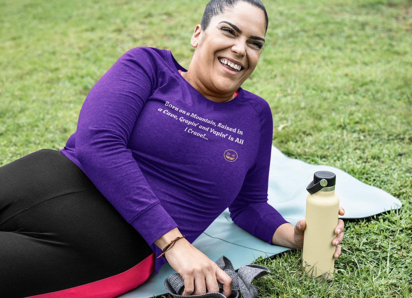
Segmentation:
<svg viewBox="0 0 412 298">
<path fill-rule="evenodd" d="M 122 273 L 152 249 L 59 151 L 0 168 L 0 296 L 20 298 Z"/>
</svg>

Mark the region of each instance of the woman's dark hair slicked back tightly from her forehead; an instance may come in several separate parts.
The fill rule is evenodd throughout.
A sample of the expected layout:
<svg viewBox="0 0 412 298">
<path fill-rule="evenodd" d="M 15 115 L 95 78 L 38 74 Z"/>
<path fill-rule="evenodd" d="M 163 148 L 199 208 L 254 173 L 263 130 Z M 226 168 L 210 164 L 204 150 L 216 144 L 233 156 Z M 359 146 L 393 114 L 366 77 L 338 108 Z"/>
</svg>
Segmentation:
<svg viewBox="0 0 412 298">
<path fill-rule="evenodd" d="M 202 21 L 200 23 L 202 30 L 206 30 L 208 27 L 211 18 L 221 14 L 226 8 L 233 8 L 239 2 L 246 2 L 250 5 L 258 7 L 265 13 L 265 23 L 266 23 L 266 30 L 267 31 L 267 24 L 269 23 L 269 19 L 267 17 L 267 12 L 265 6 L 263 6 L 260 0 L 211 0 L 205 8 L 205 11 L 202 16 Z"/>
</svg>

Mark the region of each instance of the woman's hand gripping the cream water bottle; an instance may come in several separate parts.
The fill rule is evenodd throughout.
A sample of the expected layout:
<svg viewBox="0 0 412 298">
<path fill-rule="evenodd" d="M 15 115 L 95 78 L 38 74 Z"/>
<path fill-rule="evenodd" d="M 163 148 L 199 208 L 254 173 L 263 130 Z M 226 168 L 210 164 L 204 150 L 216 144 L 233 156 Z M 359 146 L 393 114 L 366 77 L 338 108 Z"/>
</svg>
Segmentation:
<svg viewBox="0 0 412 298">
<path fill-rule="evenodd" d="M 339 207 L 339 215 L 344 214 L 345 210 L 342 207 Z M 337 226 L 335 228 L 335 234 L 337 236 L 332 240 L 332 244 L 336 246 L 335 254 L 333 255 L 335 259 L 339 258 L 342 249 L 339 244 L 342 243 L 342 240 L 344 238 L 344 226 L 345 224 L 343 220 L 338 219 Z M 304 219 L 297 222 L 295 226 L 288 223 L 282 224 L 276 229 L 275 233 L 273 234 L 272 243 L 284 247 L 302 249 L 305 228 L 306 222 Z"/>
</svg>

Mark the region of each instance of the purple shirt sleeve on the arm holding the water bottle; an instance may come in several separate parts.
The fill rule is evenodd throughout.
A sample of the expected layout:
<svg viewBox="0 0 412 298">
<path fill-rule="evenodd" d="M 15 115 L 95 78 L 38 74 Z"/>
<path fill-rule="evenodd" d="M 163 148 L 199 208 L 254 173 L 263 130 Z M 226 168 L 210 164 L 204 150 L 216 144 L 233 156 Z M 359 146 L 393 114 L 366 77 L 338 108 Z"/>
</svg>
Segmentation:
<svg viewBox="0 0 412 298">
<path fill-rule="evenodd" d="M 263 100 L 263 99 L 262 99 Z M 254 166 L 247 172 L 241 190 L 229 206 L 230 217 L 242 229 L 272 244 L 276 229 L 287 221 L 267 203 L 273 122 L 269 105 L 259 112 L 260 143 Z"/>
</svg>

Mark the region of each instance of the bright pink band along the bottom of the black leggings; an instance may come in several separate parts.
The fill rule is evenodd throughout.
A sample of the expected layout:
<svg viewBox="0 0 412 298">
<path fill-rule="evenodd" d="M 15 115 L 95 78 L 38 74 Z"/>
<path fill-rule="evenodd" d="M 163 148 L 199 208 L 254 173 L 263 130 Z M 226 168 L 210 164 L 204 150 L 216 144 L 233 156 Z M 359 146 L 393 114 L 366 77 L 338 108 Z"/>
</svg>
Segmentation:
<svg viewBox="0 0 412 298">
<path fill-rule="evenodd" d="M 143 284 L 155 269 L 155 254 L 127 271 L 70 289 L 26 298 L 114 298 Z"/>
</svg>

